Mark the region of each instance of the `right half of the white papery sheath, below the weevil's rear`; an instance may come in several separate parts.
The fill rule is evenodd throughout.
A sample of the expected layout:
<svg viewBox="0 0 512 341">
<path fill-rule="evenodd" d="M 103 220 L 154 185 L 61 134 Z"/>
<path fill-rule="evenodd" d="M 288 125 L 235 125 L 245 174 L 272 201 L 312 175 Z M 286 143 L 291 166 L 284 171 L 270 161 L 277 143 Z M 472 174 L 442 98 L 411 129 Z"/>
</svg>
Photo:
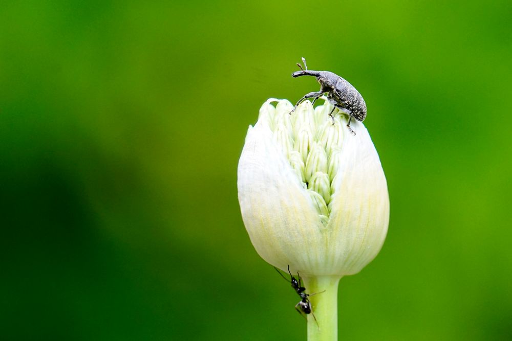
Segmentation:
<svg viewBox="0 0 512 341">
<path fill-rule="evenodd" d="M 344 132 L 333 179 L 326 266 L 336 274 L 359 272 L 380 251 L 389 222 L 386 177 L 368 130 L 352 120 L 356 135 Z"/>
</svg>

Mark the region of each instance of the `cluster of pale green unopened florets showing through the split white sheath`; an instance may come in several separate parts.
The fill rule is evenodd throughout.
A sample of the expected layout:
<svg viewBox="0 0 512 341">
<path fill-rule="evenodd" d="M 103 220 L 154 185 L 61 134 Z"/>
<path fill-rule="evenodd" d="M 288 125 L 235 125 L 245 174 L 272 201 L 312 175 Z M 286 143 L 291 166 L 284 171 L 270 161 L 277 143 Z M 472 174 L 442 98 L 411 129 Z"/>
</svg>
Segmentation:
<svg viewBox="0 0 512 341">
<path fill-rule="evenodd" d="M 344 123 L 335 116 L 332 124 L 328 115 L 332 105 L 328 102 L 311 110 L 311 102 L 305 101 L 290 116 L 292 108 L 288 101 L 279 101 L 275 108 L 268 103 L 265 115 L 260 115 L 259 120 L 268 120 L 273 141 L 286 156 L 303 188 L 310 192 L 326 226 L 334 194 L 332 182 L 341 162 Z"/>
</svg>

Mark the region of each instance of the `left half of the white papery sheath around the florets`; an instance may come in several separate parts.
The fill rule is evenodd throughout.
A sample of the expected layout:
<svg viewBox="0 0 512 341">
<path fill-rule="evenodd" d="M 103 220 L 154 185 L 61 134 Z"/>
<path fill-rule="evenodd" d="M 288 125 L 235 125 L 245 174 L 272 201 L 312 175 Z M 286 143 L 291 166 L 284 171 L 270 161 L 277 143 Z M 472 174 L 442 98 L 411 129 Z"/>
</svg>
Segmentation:
<svg viewBox="0 0 512 341">
<path fill-rule="evenodd" d="M 266 120 L 247 134 L 238 166 L 238 198 L 254 248 L 268 263 L 314 273 L 323 229 L 307 190 L 272 142 Z M 311 247 L 308 247 L 311 245 Z"/>
</svg>

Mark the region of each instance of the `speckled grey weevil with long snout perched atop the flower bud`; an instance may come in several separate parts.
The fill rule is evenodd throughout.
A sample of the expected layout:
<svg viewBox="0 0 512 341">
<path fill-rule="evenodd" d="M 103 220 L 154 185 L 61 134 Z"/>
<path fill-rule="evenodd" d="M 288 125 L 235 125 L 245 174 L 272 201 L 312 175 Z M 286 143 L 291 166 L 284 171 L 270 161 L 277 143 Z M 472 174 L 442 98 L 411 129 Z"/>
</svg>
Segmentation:
<svg viewBox="0 0 512 341">
<path fill-rule="evenodd" d="M 359 94 L 352 84 L 335 73 L 329 71 L 308 70 L 306 59 L 302 58 L 302 62 L 304 63 L 304 69 L 306 70 L 302 68 L 301 64 L 297 63 L 298 67 L 300 67 L 302 71 L 292 73 L 292 77 L 314 76 L 318 83 L 320 83 L 320 90 L 318 92 L 312 92 L 304 95 L 304 97 L 301 98 L 290 111 L 290 115 L 295 111 L 297 106 L 306 99 L 314 97 L 314 104 L 320 96 L 327 93 L 327 100 L 334 106 L 329 113 L 329 116 L 332 119 L 332 124 L 334 124 L 334 117 L 332 116 L 332 113 L 335 108 L 338 108 L 340 111 L 343 111 L 350 116 L 347 127 L 350 129 L 350 132 L 355 135 L 355 131 L 350 128 L 350 120 L 352 120 L 353 117 L 357 121 L 362 122 L 366 118 L 366 103 L 361 94 Z"/>
</svg>

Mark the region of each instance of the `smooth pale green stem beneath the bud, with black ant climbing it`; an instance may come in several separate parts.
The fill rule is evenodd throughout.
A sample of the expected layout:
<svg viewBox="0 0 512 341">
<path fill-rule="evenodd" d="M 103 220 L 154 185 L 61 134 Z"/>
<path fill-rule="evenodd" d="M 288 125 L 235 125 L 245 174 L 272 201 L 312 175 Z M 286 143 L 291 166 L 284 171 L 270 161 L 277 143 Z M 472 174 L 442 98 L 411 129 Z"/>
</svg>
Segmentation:
<svg viewBox="0 0 512 341">
<path fill-rule="evenodd" d="M 318 325 L 309 314 L 308 341 L 337 341 L 339 279 L 338 276 L 303 277 L 307 292 L 318 292 L 309 298 Z"/>
</svg>

